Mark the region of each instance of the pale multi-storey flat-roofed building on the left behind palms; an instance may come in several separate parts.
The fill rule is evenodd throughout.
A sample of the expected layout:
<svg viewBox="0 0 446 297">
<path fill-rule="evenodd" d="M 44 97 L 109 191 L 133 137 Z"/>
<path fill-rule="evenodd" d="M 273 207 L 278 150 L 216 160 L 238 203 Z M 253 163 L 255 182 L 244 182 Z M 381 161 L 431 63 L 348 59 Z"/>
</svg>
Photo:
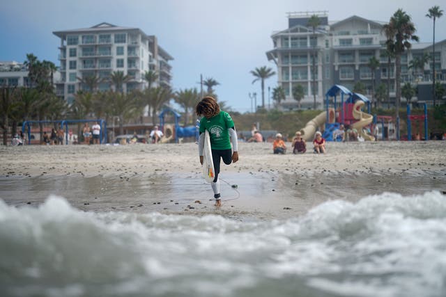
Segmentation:
<svg viewBox="0 0 446 297">
<path fill-rule="evenodd" d="M 132 80 L 124 83 L 123 91 L 143 90 L 147 86 L 144 73 L 157 72 L 159 86 L 171 86 L 171 65 L 174 58 L 157 44 L 154 35 L 141 29 L 101 23 L 91 28 L 53 32 L 61 38 L 59 61 L 61 79 L 56 93 L 71 103 L 78 90 L 85 86 L 78 78 L 95 76 L 102 81 L 99 90 L 112 88 L 108 81 L 112 72 L 121 71 Z"/>
</svg>

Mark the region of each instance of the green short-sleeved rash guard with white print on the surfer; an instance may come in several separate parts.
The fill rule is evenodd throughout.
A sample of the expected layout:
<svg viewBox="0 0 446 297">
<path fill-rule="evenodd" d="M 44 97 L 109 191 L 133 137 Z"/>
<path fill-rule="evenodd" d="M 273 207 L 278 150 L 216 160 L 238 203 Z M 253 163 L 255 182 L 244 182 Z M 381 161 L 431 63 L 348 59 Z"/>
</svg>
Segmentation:
<svg viewBox="0 0 446 297">
<path fill-rule="evenodd" d="M 220 111 L 215 117 L 200 120 L 200 134 L 209 131 L 210 147 L 213 150 L 230 150 L 231 141 L 229 140 L 229 128 L 234 127 L 234 122 L 229 113 Z"/>
</svg>

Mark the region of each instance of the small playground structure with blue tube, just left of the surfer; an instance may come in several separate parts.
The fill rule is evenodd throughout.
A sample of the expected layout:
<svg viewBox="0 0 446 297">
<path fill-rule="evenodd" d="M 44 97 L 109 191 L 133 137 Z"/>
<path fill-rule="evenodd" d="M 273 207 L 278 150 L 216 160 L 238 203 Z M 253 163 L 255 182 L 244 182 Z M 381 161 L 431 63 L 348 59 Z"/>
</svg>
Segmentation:
<svg viewBox="0 0 446 297">
<path fill-rule="evenodd" d="M 174 115 L 174 125 L 165 123 L 164 118 L 167 113 L 172 113 Z M 160 118 L 160 129 L 164 133 L 164 137 L 161 139 L 162 143 L 167 143 L 173 139 L 175 140 L 175 143 L 178 143 L 180 138 L 184 137 L 195 137 L 196 140 L 198 139 L 198 124 L 195 126 L 180 127 L 179 121 L 181 115 L 173 109 L 163 109 L 158 117 Z"/>
</svg>

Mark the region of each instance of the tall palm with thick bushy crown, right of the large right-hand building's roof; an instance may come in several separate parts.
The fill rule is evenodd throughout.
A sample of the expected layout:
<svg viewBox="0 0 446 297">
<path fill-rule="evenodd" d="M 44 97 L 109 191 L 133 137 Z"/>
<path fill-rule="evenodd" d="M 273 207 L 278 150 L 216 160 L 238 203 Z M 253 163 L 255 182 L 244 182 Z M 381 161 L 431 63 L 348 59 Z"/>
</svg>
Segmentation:
<svg viewBox="0 0 446 297">
<path fill-rule="evenodd" d="M 390 17 L 389 24 L 384 25 L 388 42 L 391 47 L 394 48 L 395 54 L 395 81 L 396 90 L 395 97 L 397 103 L 397 119 L 399 118 L 399 105 L 401 102 L 401 54 L 406 49 L 410 49 L 412 46 L 410 40 L 418 41 L 419 38 L 415 35 L 415 25 L 412 22 L 411 17 L 405 13 L 401 8 L 397 10 L 392 17 Z M 389 38 L 390 37 L 390 38 Z M 397 131 L 398 134 L 398 131 Z"/>
</svg>

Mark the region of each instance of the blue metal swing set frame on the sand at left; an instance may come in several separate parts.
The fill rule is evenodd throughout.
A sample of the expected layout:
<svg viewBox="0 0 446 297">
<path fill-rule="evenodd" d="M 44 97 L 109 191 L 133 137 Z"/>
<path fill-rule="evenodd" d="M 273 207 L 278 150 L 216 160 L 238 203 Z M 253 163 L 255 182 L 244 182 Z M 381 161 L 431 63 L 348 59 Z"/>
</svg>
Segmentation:
<svg viewBox="0 0 446 297">
<path fill-rule="evenodd" d="M 99 143 L 105 143 L 106 142 L 106 135 L 107 135 L 107 122 L 102 119 L 97 120 L 29 120 L 25 121 L 22 124 L 22 133 L 25 134 L 26 132 L 26 138 L 28 141 L 28 144 L 31 145 L 31 125 L 33 124 L 56 124 L 58 127 L 64 130 L 65 132 L 65 142 L 66 145 L 68 145 L 68 125 L 72 124 L 80 124 L 85 122 L 98 122 L 100 125 L 100 134 L 99 134 Z"/>
</svg>

